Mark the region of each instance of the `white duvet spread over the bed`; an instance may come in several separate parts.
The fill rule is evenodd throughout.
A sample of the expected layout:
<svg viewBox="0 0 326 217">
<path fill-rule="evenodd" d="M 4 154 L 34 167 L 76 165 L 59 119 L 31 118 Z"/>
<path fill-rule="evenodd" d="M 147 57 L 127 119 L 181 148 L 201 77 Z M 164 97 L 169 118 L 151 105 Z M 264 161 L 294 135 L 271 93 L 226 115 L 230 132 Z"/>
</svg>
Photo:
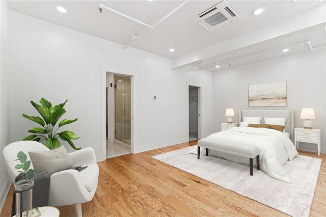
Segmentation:
<svg viewBox="0 0 326 217">
<path fill-rule="evenodd" d="M 270 177 L 291 183 L 290 177 L 283 168 L 283 165 L 287 160 L 292 160 L 298 152 L 285 133 L 267 128 L 233 127 L 210 134 L 207 138 L 257 146 L 260 149 L 260 169 Z M 197 154 L 197 147 L 189 152 Z M 205 148 L 202 148 L 201 154 L 204 153 Z M 239 164 L 249 165 L 249 160 L 246 157 L 214 150 L 209 150 L 209 155 L 222 157 Z M 256 160 L 254 160 L 254 166 L 256 166 L 255 164 Z"/>
</svg>

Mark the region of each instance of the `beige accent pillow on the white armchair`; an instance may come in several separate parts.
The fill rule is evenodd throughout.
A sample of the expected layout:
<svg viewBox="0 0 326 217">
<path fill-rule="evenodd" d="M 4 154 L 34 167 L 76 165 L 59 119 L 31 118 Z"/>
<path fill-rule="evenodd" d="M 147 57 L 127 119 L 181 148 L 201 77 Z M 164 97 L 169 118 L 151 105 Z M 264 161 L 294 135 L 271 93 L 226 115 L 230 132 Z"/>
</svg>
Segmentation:
<svg viewBox="0 0 326 217">
<path fill-rule="evenodd" d="M 64 146 L 50 151 L 29 151 L 29 155 L 35 173 L 55 173 L 73 167 L 72 159 Z"/>
</svg>

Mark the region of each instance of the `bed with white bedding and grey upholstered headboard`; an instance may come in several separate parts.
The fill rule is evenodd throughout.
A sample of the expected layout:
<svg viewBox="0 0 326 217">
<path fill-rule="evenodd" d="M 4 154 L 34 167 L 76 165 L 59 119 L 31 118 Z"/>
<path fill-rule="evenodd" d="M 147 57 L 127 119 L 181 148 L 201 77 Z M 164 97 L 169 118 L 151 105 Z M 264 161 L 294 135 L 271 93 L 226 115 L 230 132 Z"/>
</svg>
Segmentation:
<svg viewBox="0 0 326 217">
<path fill-rule="evenodd" d="M 260 122 L 258 123 L 259 118 Z M 260 169 L 270 177 L 291 183 L 283 165 L 287 160 L 292 160 L 298 154 L 292 142 L 294 133 L 293 118 L 293 110 L 240 110 L 239 127 L 212 133 L 207 138 L 257 146 L 260 149 Z M 252 123 L 246 126 L 249 122 Z M 269 125 L 279 126 L 284 124 L 283 130 L 267 127 Z M 189 152 L 197 154 L 197 147 Z M 201 148 L 200 152 L 201 155 L 206 154 L 204 148 Z M 209 155 L 249 165 L 249 161 L 245 157 L 214 150 L 209 150 Z M 255 162 L 254 166 L 256 166 Z"/>
</svg>

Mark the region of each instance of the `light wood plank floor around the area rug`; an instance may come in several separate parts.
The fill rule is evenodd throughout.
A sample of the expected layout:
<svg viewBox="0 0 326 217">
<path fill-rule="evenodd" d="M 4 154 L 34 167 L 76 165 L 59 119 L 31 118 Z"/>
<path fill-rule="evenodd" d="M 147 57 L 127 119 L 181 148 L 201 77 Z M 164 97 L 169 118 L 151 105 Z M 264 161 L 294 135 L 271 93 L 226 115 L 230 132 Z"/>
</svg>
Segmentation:
<svg viewBox="0 0 326 217">
<path fill-rule="evenodd" d="M 83 216 L 286 216 L 151 157 L 196 144 L 193 141 L 98 162 L 97 191 L 92 201 L 82 205 Z M 310 216 L 325 216 L 326 154 L 300 154 L 323 160 Z M 11 200 L 12 188 L 1 216 L 10 216 Z M 73 205 L 58 208 L 60 216 L 75 216 Z"/>
</svg>

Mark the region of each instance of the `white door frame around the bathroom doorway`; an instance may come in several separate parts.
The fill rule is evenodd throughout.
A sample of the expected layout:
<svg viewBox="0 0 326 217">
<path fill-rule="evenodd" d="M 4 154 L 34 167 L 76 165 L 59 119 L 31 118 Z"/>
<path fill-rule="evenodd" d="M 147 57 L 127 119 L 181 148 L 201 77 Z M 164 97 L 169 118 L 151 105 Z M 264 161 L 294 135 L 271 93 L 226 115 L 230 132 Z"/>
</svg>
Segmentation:
<svg viewBox="0 0 326 217">
<path fill-rule="evenodd" d="M 130 76 L 130 89 L 131 89 L 131 102 L 130 102 L 130 115 L 131 115 L 131 123 L 130 123 L 130 151 L 134 153 L 134 121 L 133 121 L 133 111 L 134 111 L 134 85 L 133 85 L 133 75 L 128 73 L 116 72 L 114 69 L 110 69 L 107 67 L 102 67 L 101 69 L 101 155 L 100 160 L 106 159 L 106 73 L 112 73 L 116 75 Z"/>
</svg>

